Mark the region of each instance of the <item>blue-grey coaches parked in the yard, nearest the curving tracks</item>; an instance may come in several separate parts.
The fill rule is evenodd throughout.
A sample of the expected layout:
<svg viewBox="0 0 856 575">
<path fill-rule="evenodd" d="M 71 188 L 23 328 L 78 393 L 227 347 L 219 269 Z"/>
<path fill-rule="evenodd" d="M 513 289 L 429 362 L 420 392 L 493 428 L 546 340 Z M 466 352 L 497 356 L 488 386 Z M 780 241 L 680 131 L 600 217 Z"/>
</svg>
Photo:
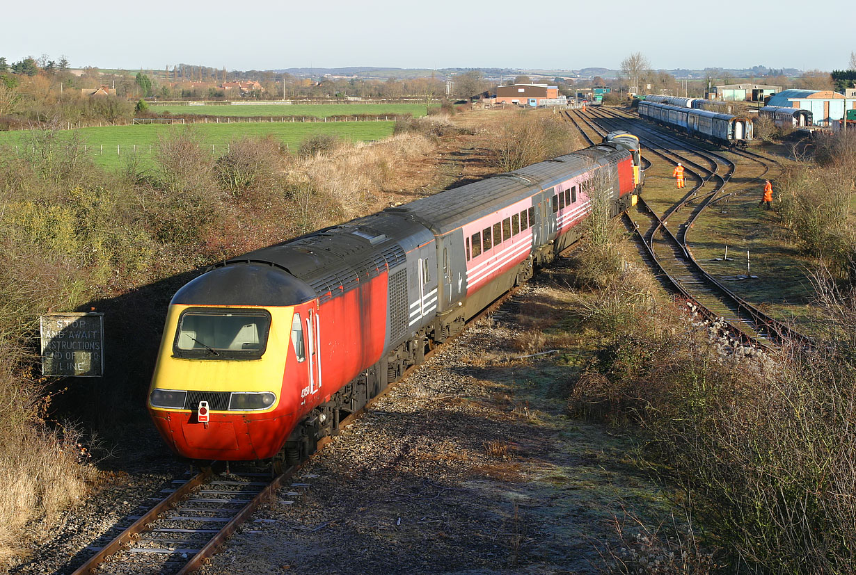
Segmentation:
<svg viewBox="0 0 856 575">
<path fill-rule="evenodd" d="M 717 144 L 746 147 L 752 139 L 752 120 L 742 116 L 659 104 L 647 98 L 639 101 L 639 116 Z"/>
</svg>

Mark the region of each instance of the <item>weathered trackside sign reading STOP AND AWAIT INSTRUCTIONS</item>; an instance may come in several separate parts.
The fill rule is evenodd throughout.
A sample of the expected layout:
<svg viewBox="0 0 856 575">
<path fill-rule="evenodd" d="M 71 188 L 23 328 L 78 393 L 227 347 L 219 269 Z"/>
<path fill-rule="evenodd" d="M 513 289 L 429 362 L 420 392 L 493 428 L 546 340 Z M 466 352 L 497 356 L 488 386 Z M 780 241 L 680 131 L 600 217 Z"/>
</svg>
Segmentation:
<svg viewBox="0 0 856 575">
<path fill-rule="evenodd" d="M 104 375 L 104 314 L 51 313 L 39 318 L 42 375 Z"/>
</svg>

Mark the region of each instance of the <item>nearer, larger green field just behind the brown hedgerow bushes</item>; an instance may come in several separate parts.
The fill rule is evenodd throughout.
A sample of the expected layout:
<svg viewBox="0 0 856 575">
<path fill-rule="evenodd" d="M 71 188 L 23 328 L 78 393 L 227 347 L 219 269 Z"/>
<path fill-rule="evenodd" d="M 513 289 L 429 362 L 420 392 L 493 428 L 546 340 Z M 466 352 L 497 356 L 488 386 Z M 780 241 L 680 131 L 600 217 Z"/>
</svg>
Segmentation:
<svg viewBox="0 0 856 575">
<path fill-rule="evenodd" d="M 98 165 L 116 169 L 124 158 L 140 155 L 150 157 L 158 149 L 158 139 L 169 133 L 192 129 L 199 134 L 211 153 L 223 153 L 229 142 L 243 136 L 263 137 L 268 134 L 279 141 L 283 147 L 296 152 L 300 142 L 312 134 L 331 133 L 342 139 L 366 141 L 383 139 L 392 134 L 395 122 L 261 122 L 241 124 L 195 124 L 181 125 L 132 125 L 109 127 L 83 127 L 77 130 L 63 131 L 70 136 L 77 133 L 86 145 L 87 152 Z M 22 153 L 31 139 L 27 131 L 0 132 L 0 145 L 9 145 L 7 153 Z M 18 146 L 17 150 L 15 146 Z M 134 148 L 136 146 L 136 148 Z"/>
</svg>

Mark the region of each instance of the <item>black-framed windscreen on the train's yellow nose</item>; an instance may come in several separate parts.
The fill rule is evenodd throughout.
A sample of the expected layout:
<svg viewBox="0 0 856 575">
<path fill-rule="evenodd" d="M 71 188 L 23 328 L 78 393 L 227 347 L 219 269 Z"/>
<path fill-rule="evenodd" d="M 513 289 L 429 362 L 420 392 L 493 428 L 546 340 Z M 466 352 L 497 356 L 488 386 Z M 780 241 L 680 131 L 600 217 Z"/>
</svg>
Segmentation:
<svg viewBox="0 0 856 575">
<path fill-rule="evenodd" d="M 184 359 L 259 359 L 268 331 L 264 310 L 191 308 L 179 317 L 172 351 Z"/>
</svg>

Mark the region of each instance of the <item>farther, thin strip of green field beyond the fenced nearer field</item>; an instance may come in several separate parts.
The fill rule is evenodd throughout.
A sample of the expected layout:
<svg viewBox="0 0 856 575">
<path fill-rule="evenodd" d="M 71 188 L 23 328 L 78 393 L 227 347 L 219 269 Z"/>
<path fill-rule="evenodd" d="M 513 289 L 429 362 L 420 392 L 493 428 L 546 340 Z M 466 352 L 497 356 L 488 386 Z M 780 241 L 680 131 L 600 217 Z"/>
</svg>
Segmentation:
<svg viewBox="0 0 856 575">
<path fill-rule="evenodd" d="M 208 116 L 348 116 L 354 114 L 377 114 L 395 116 L 413 114 L 425 116 L 425 104 L 237 104 L 203 106 L 151 106 L 152 112 L 170 114 L 199 114 Z"/>
</svg>

